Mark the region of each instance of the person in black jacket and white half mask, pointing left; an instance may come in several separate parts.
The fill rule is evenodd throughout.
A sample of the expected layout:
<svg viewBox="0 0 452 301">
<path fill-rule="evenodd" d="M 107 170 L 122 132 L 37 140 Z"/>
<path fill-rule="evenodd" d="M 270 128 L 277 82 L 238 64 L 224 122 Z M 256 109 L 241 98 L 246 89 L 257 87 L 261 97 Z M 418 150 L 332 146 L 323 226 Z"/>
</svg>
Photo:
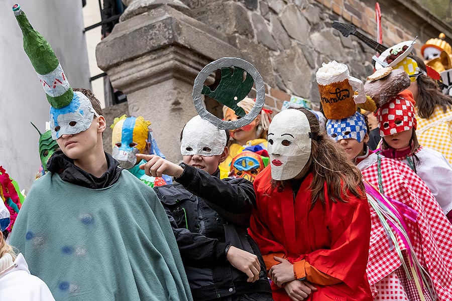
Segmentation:
<svg viewBox="0 0 452 301">
<path fill-rule="evenodd" d="M 256 201 L 248 180 L 219 179 L 228 157 L 229 131 L 193 117 L 181 133 L 183 163 L 155 155 L 140 168 L 177 184 L 155 187 L 176 237 L 193 299 L 272 300 L 266 267 L 247 228 Z"/>
</svg>

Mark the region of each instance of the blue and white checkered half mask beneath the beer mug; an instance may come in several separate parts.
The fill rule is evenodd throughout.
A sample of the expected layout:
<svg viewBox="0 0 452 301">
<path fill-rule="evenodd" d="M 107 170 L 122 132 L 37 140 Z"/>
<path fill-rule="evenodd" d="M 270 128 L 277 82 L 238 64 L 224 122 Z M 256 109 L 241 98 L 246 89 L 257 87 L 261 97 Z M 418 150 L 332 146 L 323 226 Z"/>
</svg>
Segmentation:
<svg viewBox="0 0 452 301">
<path fill-rule="evenodd" d="M 326 133 L 336 141 L 353 138 L 361 142 L 367 133 L 366 121 L 359 112 L 343 119 L 328 119 Z"/>
</svg>

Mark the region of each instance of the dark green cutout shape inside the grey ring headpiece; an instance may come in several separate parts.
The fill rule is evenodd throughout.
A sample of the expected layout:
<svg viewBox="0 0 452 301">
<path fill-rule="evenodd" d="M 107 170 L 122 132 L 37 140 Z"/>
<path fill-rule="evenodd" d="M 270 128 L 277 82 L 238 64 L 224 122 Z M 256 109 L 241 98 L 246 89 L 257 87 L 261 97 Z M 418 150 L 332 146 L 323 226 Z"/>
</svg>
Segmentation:
<svg viewBox="0 0 452 301">
<path fill-rule="evenodd" d="M 243 80 L 244 72 L 245 70 L 239 67 L 234 67 L 234 71 L 230 67 L 221 68 L 221 80 L 218 87 L 212 91 L 204 85 L 201 93 L 231 108 L 237 116 L 243 117 L 246 112 L 237 103 L 250 93 L 254 83 L 253 78 L 248 73 Z"/>
</svg>

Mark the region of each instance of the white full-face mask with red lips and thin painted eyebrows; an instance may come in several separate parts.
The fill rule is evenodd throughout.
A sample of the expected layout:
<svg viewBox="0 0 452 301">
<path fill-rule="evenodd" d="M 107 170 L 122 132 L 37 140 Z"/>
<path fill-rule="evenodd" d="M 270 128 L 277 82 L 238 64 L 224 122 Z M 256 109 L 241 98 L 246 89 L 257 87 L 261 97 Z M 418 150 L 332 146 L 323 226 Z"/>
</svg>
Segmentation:
<svg viewBox="0 0 452 301">
<path fill-rule="evenodd" d="M 306 115 L 296 109 L 276 114 L 268 129 L 268 153 L 272 179 L 295 178 L 311 155 L 311 129 Z"/>
</svg>

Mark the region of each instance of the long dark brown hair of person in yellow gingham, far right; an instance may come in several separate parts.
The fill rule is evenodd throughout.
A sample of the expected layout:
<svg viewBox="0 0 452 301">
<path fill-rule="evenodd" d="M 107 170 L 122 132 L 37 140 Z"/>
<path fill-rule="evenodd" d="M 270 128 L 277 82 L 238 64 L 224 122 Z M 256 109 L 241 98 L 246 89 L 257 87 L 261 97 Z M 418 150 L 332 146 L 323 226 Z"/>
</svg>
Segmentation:
<svg viewBox="0 0 452 301">
<path fill-rule="evenodd" d="M 416 61 L 422 71 L 426 72 L 427 67 L 419 57 L 411 58 Z M 452 98 L 444 95 L 436 82 L 427 75 L 421 74 L 417 77 L 417 93 L 417 99 L 415 99 L 417 113 L 422 118 L 430 118 L 436 106 L 440 106 L 444 113 L 452 108 Z"/>
</svg>

